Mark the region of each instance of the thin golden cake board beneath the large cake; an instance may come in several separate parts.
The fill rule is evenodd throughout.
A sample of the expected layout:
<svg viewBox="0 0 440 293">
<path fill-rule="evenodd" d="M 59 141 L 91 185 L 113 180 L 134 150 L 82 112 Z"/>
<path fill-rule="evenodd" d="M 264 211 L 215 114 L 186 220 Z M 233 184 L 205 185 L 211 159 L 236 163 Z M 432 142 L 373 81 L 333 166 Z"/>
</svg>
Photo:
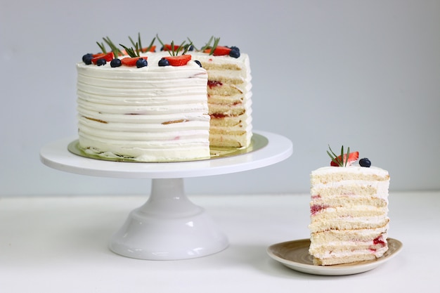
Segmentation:
<svg viewBox="0 0 440 293">
<path fill-rule="evenodd" d="M 219 159 L 222 157 L 233 157 L 237 155 L 247 154 L 249 152 L 254 152 L 255 150 L 264 148 L 267 144 L 268 144 L 268 139 L 265 136 L 262 136 L 261 134 L 253 134 L 250 146 L 248 146 L 247 148 L 210 148 L 211 157 L 209 157 L 208 159 Z M 116 158 L 101 157 L 99 155 L 88 154 L 84 152 L 84 150 L 82 150 L 82 148 L 79 146 L 78 140 L 69 143 L 69 145 L 67 145 L 67 149 L 75 155 L 79 155 L 81 157 L 88 157 L 89 159 L 101 159 L 104 161 L 112 161 L 112 162 L 139 162 L 129 157 L 116 157 Z M 193 159 L 192 161 L 202 161 L 202 160 L 204 159 Z M 174 160 L 174 161 L 166 161 L 166 162 L 188 162 L 188 160 L 186 161 Z M 160 162 L 150 162 L 150 163 L 160 163 Z"/>
</svg>

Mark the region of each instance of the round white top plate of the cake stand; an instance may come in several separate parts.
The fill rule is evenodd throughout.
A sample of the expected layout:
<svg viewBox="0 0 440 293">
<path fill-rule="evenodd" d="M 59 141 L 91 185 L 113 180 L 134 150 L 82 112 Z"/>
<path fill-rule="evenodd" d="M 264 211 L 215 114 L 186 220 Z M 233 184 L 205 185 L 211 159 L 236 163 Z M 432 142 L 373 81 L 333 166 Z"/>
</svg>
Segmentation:
<svg viewBox="0 0 440 293">
<path fill-rule="evenodd" d="M 53 169 L 74 174 L 112 178 L 188 178 L 229 174 L 266 167 L 287 159 L 292 155 L 292 142 L 278 134 L 256 131 L 268 143 L 252 152 L 241 155 L 204 159 L 190 162 L 111 162 L 75 155 L 67 146 L 75 137 L 63 138 L 48 143 L 40 151 L 43 164 Z"/>
</svg>

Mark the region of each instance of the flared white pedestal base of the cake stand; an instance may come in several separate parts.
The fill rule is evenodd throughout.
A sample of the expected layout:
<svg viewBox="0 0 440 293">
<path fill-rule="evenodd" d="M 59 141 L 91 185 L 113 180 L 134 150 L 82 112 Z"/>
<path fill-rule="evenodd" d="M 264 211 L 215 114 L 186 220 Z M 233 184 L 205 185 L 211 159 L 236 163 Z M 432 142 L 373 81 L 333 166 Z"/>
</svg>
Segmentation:
<svg viewBox="0 0 440 293">
<path fill-rule="evenodd" d="M 147 202 L 131 211 L 110 240 L 113 252 L 149 260 L 192 259 L 226 247 L 226 235 L 186 197 L 183 178 L 153 179 Z"/>
</svg>

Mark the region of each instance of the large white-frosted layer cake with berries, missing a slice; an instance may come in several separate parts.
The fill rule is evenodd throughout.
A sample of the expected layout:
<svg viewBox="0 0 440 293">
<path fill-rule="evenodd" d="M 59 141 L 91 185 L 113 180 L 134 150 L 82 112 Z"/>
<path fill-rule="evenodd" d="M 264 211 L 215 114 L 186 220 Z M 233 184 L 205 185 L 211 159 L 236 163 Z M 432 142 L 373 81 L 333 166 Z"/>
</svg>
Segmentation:
<svg viewBox="0 0 440 293">
<path fill-rule="evenodd" d="M 84 152 L 174 162 L 209 158 L 210 148 L 250 145 L 247 54 L 218 46 L 219 39 L 201 50 L 160 41 L 158 52 L 155 39 L 148 48 L 139 45 L 140 37 L 136 44 L 130 39 L 134 48 L 121 45 L 124 50 L 104 40 L 111 52 L 98 43 L 103 53 L 86 54 L 77 63 L 78 141 Z"/>
</svg>

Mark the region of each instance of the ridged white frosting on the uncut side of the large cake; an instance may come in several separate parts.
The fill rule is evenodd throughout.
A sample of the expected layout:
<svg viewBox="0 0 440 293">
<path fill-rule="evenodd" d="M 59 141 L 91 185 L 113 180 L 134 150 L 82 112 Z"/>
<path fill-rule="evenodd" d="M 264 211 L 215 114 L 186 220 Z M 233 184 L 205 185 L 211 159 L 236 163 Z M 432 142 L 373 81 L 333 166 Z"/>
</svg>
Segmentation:
<svg viewBox="0 0 440 293">
<path fill-rule="evenodd" d="M 77 64 L 79 145 L 138 161 L 209 157 L 206 70 L 147 55 L 141 68 Z"/>
</svg>

